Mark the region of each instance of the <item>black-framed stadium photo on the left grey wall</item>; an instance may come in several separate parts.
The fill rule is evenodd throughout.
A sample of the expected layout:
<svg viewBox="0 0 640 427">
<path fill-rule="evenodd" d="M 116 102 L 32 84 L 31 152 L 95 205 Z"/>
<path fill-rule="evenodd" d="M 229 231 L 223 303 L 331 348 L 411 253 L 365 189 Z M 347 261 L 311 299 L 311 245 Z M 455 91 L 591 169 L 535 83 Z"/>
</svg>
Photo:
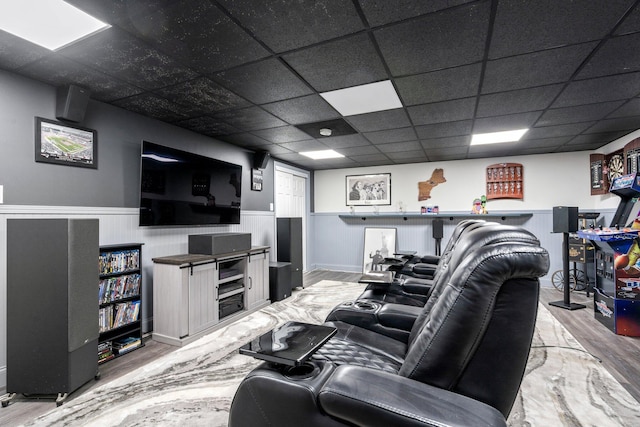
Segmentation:
<svg viewBox="0 0 640 427">
<path fill-rule="evenodd" d="M 95 130 L 36 117 L 36 162 L 98 168 Z"/>
</svg>

